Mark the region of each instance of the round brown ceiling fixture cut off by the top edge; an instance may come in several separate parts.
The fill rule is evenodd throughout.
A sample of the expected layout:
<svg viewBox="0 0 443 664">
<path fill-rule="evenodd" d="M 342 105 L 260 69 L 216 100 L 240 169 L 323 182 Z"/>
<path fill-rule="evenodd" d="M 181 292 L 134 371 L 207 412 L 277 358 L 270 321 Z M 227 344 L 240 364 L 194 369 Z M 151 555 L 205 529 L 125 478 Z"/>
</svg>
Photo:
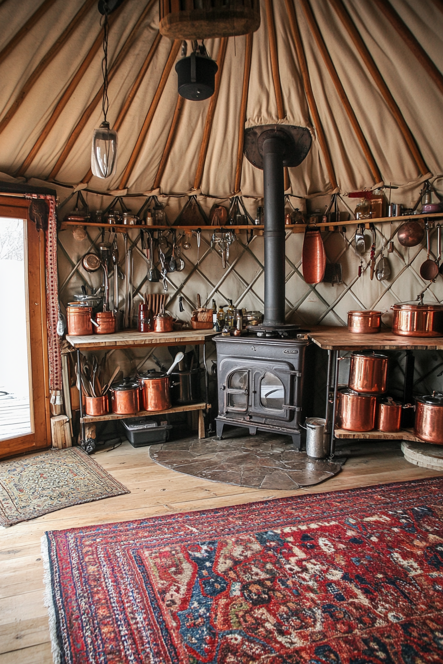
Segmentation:
<svg viewBox="0 0 443 664">
<path fill-rule="evenodd" d="M 260 0 L 160 0 L 159 7 L 160 33 L 170 39 L 248 35 L 260 27 Z"/>
</svg>

